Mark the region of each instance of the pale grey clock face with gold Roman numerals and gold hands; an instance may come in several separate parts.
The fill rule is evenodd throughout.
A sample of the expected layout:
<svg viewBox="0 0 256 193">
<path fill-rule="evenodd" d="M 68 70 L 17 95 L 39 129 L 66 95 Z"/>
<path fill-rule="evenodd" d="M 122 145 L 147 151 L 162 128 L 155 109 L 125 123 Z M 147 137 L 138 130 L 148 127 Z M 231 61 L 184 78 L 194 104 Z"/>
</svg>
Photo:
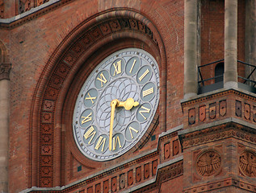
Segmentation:
<svg viewBox="0 0 256 193">
<path fill-rule="evenodd" d="M 149 129 L 158 101 L 159 71 L 152 55 L 136 48 L 109 55 L 78 95 L 73 113 L 78 149 L 96 161 L 124 154 Z"/>
</svg>

